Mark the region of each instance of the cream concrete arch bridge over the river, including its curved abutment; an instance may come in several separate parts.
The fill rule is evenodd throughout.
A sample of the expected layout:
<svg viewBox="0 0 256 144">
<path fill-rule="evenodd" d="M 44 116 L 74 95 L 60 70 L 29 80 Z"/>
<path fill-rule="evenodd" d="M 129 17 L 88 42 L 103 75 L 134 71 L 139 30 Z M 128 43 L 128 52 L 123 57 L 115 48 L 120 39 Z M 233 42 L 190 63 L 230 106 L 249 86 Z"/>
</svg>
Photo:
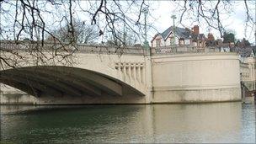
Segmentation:
<svg viewBox="0 0 256 144">
<path fill-rule="evenodd" d="M 23 53 L 22 46 L 15 45 L 12 49 Z M 151 104 L 241 100 L 239 60 L 234 53 L 189 49 L 185 53 L 152 50 L 150 55 L 141 48 L 123 48 L 120 56 L 115 48 L 88 45 L 78 45 L 78 50 L 73 55 L 72 67 L 26 63 L 1 71 L 0 82 L 33 95 L 19 97 L 19 103 Z M 2 93 L 1 103 L 12 103 L 5 94 Z"/>
</svg>

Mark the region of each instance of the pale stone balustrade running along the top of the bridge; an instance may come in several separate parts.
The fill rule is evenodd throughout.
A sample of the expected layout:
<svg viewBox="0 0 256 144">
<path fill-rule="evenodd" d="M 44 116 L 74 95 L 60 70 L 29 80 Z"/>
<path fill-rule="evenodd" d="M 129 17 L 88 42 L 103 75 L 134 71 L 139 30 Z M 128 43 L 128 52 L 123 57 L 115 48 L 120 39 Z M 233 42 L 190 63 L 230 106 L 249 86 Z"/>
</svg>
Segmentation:
<svg viewBox="0 0 256 144">
<path fill-rule="evenodd" d="M 44 46 L 40 46 L 39 42 L 31 41 L 0 41 L 1 49 L 16 50 L 16 51 L 29 51 L 35 48 L 40 48 L 42 50 L 71 50 L 84 53 L 104 53 L 104 54 L 132 54 L 132 55 L 149 55 L 151 53 L 154 55 L 172 55 L 172 54 L 183 54 L 183 53 L 211 53 L 211 52 L 221 52 L 218 47 L 200 47 L 200 46 L 162 46 L 162 47 L 152 47 L 151 51 L 145 50 L 144 47 L 135 46 L 106 46 L 106 45 L 69 45 L 67 43 L 54 43 L 45 42 Z"/>
</svg>

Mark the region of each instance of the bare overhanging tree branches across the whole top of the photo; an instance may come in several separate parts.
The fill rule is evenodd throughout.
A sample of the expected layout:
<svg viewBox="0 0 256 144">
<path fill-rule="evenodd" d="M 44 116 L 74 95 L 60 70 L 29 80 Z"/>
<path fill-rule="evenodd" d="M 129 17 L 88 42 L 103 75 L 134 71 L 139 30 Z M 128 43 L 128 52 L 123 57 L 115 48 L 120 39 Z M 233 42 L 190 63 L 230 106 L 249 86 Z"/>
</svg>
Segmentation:
<svg viewBox="0 0 256 144">
<path fill-rule="evenodd" d="M 14 60 L 26 61 L 28 54 L 35 57 L 36 61 L 40 61 L 39 63 L 53 60 L 70 61 L 72 54 L 79 51 L 76 46 L 77 42 L 87 42 L 87 36 L 79 40 L 77 35 L 84 36 L 85 33 L 89 33 L 84 31 L 83 34 L 77 34 L 74 19 L 83 19 L 82 21 L 88 22 L 85 25 L 93 24 L 97 26 L 99 32 L 96 34 L 102 40 L 110 32 L 115 41 L 123 41 L 124 39 L 119 34 L 122 32 L 124 24 L 126 29 L 134 33 L 140 40 L 146 26 L 144 25 L 143 9 L 148 8 L 148 16 L 153 16 L 150 3 L 144 0 L 0 0 L 1 64 L 8 65 L 8 67 L 17 67 L 19 61 Z M 203 19 L 211 28 L 219 30 L 221 35 L 225 31 L 221 21 L 223 19 L 221 13 L 231 13 L 234 4 L 230 0 L 184 0 L 173 1 L 173 3 L 179 5 L 176 10 L 180 13 L 180 24 L 183 24 L 184 19 L 192 19 L 197 22 L 201 22 Z M 254 9 L 248 7 L 255 4 L 255 2 L 244 0 L 243 3 L 247 13 L 246 23 L 255 29 Z M 61 38 L 54 34 L 54 31 L 59 28 L 65 28 L 65 31 L 67 31 L 68 43 L 64 44 Z M 54 38 L 56 45 L 45 46 L 45 39 L 48 37 Z M 34 44 L 34 47 L 29 47 L 25 56 L 21 55 L 19 51 L 3 46 L 3 40 L 15 41 L 18 44 L 24 38 L 29 38 L 29 41 Z M 72 49 L 67 49 L 67 45 Z M 45 52 L 47 55 L 45 55 Z"/>
</svg>

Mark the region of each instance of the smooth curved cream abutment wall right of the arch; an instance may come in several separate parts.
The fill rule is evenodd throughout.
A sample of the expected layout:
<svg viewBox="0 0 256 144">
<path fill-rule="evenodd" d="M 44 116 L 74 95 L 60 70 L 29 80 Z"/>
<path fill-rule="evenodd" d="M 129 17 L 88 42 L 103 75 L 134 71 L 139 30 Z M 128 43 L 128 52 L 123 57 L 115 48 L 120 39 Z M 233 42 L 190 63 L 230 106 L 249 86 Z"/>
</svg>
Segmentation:
<svg viewBox="0 0 256 144">
<path fill-rule="evenodd" d="M 152 103 L 241 100 L 240 68 L 234 54 L 152 57 Z"/>
</svg>

